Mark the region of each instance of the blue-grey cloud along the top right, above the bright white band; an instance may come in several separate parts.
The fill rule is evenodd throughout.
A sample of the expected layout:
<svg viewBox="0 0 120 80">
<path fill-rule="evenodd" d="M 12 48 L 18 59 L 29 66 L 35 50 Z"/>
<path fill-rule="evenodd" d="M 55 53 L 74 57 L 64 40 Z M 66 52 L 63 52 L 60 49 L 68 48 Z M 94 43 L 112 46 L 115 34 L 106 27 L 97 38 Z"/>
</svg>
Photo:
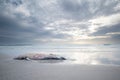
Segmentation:
<svg viewBox="0 0 120 80">
<path fill-rule="evenodd" d="M 118 1 L 114 0 L 62 0 L 60 3 L 67 15 L 78 20 L 86 20 L 95 16 L 111 15 L 118 12 L 114 10 Z"/>
</svg>

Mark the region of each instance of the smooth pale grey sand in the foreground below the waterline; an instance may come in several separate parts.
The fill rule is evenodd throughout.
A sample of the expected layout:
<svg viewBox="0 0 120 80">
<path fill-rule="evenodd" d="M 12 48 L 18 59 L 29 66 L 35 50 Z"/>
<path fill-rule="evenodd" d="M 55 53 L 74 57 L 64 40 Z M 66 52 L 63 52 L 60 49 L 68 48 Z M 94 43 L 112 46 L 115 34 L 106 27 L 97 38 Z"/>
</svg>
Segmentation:
<svg viewBox="0 0 120 80">
<path fill-rule="evenodd" d="M 0 61 L 0 80 L 119 80 L 120 66 Z"/>
</svg>

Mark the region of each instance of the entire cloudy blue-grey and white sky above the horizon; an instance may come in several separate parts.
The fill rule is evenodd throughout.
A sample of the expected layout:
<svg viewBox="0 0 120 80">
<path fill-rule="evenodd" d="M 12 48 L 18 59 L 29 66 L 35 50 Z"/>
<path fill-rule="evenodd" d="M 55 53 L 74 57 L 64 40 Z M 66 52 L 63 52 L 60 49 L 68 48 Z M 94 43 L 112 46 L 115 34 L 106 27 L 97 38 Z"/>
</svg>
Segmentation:
<svg viewBox="0 0 120 80">
<path fill-rule="evenodd" d="M 0 45 L 120 43 L 120 0 L 0 0 Z"/>
</svg>

